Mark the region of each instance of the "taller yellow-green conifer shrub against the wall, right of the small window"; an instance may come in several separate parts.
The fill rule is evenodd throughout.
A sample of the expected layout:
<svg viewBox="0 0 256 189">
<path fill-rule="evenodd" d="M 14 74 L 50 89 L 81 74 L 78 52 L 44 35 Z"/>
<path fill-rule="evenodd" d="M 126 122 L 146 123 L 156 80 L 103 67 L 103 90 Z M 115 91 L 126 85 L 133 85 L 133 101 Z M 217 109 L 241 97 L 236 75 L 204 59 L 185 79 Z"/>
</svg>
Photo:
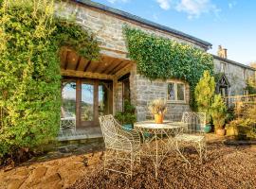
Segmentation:
<svg viewBox="0 0 256 189">
<path fill-rule="evenodd" d="M 211 120 L 210 106 L 215 92 L 214 77 L 210 76 L 209 71 L 205 71 L 194 90 L 194 98 L 198 112 L 207 113 L 207 122 Z"/>
</svg>

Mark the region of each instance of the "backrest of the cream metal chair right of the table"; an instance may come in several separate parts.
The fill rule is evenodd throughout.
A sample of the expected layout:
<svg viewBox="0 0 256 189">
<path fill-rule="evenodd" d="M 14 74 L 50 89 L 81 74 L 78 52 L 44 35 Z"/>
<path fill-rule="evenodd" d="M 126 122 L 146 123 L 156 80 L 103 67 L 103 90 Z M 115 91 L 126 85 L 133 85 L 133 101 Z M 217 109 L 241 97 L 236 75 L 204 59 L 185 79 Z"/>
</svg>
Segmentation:
<svg viewBox="0 0 256 189">
<path fill-rule="evenodd" d="M 188 124 L 185 130 L 189 134 L 203 134 L 206 127 L 205 112 L 183 112 L 182 122 Z"/>
</svg>

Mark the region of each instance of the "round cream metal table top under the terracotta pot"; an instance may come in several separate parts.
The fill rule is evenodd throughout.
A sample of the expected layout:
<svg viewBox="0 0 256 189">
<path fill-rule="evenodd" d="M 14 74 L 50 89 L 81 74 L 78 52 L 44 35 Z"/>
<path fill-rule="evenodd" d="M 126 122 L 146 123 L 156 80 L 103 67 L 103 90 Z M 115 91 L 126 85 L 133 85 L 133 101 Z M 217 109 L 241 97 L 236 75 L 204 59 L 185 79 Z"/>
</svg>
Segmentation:
<svg viewBox="0 0 256 189">
<path fill-rule="evenodd" d="M 186 127 L 183 122 L 164 121 L 162 124 L 155 124 L 155 121 L 141 121 L 134 124 L 136 128 L 142 129 L 177 129 Z"/>
</svg>

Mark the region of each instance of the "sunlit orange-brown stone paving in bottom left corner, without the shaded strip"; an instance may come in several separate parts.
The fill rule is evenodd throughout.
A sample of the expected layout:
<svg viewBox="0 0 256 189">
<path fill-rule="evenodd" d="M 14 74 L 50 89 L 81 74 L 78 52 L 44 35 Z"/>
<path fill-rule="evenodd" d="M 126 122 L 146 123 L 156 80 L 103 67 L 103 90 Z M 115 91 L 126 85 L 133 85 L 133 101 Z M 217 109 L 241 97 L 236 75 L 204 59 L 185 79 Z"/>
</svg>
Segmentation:
<svg viewBox="0 0 256 189">
<path fill-rule="evenodd" d="M 93 157 L 93 158 L 92 158 Z M 1 189 L 66 188 L 101 162 L 101 153 L 89 153 L 0 170 Z"/>
</svg>

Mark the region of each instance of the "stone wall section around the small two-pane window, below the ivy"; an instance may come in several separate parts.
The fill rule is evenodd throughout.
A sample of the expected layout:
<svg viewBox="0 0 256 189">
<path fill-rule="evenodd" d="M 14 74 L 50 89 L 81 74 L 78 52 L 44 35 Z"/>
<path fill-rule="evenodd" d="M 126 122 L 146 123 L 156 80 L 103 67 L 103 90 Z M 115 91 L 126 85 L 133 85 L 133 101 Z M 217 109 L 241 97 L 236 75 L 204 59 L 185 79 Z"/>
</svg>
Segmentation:
<svg viewBox="0 0 256 189">
<path fill-rule="evenodd" d="M 169 79 L 168 81 L 176 81 L 177 79 Z M 155 98 L 167 99 L 167 83 L 168 81 L 157 79 L 149 80 L 146 77 L 137 74 L 136 65 L 132 69 L 130 76 L 131 98 L 132 103 L 137 105 L 137 120 L 143 121 L 152 119 L 152 114 L 148 111 L 148 104 Z M 190 111 L 190 87 L 185 83 L 185 102 L 170 103 L 167 102 L 167 113 L 165 118 L 173 121 L 180 121 L 182 112 Z"/>
</svg>

